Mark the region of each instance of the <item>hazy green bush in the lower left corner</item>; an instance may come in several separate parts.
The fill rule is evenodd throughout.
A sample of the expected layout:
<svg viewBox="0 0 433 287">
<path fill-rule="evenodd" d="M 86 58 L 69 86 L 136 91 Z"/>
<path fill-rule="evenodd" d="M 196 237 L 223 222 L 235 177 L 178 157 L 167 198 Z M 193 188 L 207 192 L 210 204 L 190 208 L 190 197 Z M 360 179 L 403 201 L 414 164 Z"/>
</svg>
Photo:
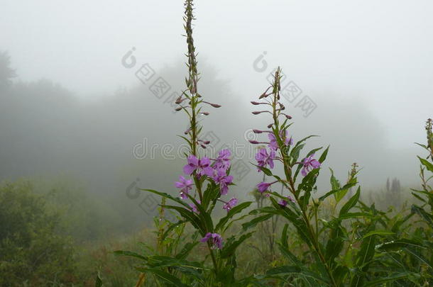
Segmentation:
<svg viewBox="0 0 433 287">
<path fill-rule="evenodd" d="M 28 182 L 0 186 L 0 285 L 75 281 L 72 242 L 59 234 L 57 213 Z"/>
</svg>

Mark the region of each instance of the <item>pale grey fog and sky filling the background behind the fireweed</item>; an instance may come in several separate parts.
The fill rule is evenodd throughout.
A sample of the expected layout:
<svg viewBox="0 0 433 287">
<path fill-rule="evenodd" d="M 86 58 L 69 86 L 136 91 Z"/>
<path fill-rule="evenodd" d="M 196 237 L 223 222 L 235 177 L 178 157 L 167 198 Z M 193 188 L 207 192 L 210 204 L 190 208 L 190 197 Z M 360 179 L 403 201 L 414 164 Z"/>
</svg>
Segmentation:
<svg viewBox="0 0 433 287">
<path fill-rule="evenodd" d="M 119 213 L 138 209 L 126 193 L 137 179 L 175 194 L 185 164 L 177 135 L 187 128 L 170 98 L 185 89 L 187 74 L 182 5 L 1 1 L 0 51 L 16 77 L 0 91 L 0 178 L 70 176 L 104 200 L 131 205 Z M 422 150 L 414 142 L 425 141 L 433 103 L 431 1 L 223 0 L 195 7 L 199 91 L 222 106 L 200 119 L 203 133 L 217 137 L 217 149 L 227 143 L 246 152 L 247 172 L 239 181 L 234 175 L 240 198 L 261 180 L 249 164 L 248 130 L 270 122 L 251 114 L 249 101 L 277 66 L 285 84 L 302 90 L 285 99 L 294 139 L 314 134 L 320 137 L 310 150 L 330 145 L 320 192 L 329 191 L 328 167 L 344 181 L 353 162 L 362 167 L 363 188 L 379 191 L 388 177 L 417 185 Z M 149 81 L 136 74 L 143 64 L 155 72 Z M 170 90 L 155 96 L 150 87 L 158 77 Z M 313 111 L 297 105 L 304 96 Z"/>
</svg>

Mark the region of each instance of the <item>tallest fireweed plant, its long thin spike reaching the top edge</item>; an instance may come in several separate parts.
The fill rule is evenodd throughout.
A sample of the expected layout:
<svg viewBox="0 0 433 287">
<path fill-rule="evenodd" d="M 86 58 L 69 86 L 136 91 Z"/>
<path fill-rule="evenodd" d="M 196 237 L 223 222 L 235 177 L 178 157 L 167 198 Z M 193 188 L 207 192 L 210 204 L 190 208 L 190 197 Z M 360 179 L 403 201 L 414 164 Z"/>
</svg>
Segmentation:
<svg viewBox="0 0 433 287">
<path fill-rule="evenodd" d="M 236 255 L 235 251 L 239 245 L 251 237 L 252 232 L 241 236 L 224 236 L 226 230 L 234 223 L 234 216 L 239 215 L 242 210 L 251 205 L 250 202 L 239 203 L 237 198 L 232 197 L 230 186 L 233 185 L 233 176 L 230 175 L 231 152 L 229 150 L 219 151 L 214 159 L 202 156 L 202 152 L 211 142 L 201 137 L 202 126 L 198 123 L 198 116 L 208 116 L 209 112 L 204 108 L 219 108 L 217 103 L 209 103 L 199 94 L 197 72 L 197 60 L 192 38 L 192 21 L 194 20 L 192 0 L 185 1 L 185 31 L 187 38 L 187 67 L 188 77 L 185 79 L 187 89 L 176 100 L 176 111 L 184 111 L 189 120 L 189 128 L 181 135 L 188 146 L 189 151 L 185 156 L 187 163 L 182 169 L 182 174 L 175 181 L 179 197 L 172 197 L 168 193 L 143 189 L 155 193 L 162 198 L 175 203 L 175 205 L 163 204 L 161 208 L 175 210 L 179 213 L 181 220 L 170 225 L 163 231 L 162 240 L 171 230 L 190 223 L 196 230 L 192 241 L 185 244 L 174 256 L 153 255 L 142 256 L 132 252 L 119 252 L 121 254 L 137 257 L 143 261 L 138 266 L 138 271 L 143 274 L 153 274 L 157 277 L 159 286 L 245 286 L 251 278 L 241 281 L 235 280 Z M 219 204 L 217 204 L 219 203 Z M 226 210 L 226 216 L 218 222 L 214 222 L 212 213 L 217 206 Z M 207 247 L 207 257 L 212 262 L 207 266 L 205 261 L 187 261 L 186 258 L 197 244 Z M 141 281 L 138 285 L 143 283 Z"/>
</svg>

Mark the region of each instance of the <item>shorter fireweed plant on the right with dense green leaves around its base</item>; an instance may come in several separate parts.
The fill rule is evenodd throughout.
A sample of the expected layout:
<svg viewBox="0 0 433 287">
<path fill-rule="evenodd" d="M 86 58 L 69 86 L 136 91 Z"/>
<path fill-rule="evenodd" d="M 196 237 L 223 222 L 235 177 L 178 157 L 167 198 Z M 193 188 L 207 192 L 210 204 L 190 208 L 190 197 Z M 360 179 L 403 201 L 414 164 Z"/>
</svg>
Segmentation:
<svg viewBox="0 0 433 287">
<path fill-rule="evenodd" d="M 398 228 L 413 212 L 390 226 L 386 213 L 377 210 L 374 204 L 366 206 L 360 200 L 360 187 L 346 200 L 348 192 L 357 185 L 357 164 L 353 164 L 343 186 L 331 170 L 331 191 L 319 198 L 312 197 L 312 193 L 317 191 L 317 176 L 329 147 L 319 157 L 316 154 L 322 147 L 311 150 L 303 158 L 300 157 L 306 140 L 314 135 L 295 143 L 294 136 L 289 131 L 291 123 L 288 121 L 291 116 L 283 113 L 285 106 L 280 102 L 280 77 L 281 69 L 278 67 L 273 84 L 261 94 L 259 101 L 251 102 L 254 106 L 265 106 L 261 111 L 253 111 L 254 115 L 270 114 L 273 120 L 268 125 L 268 130 L 253 130 L 254 133 L 266 135 L 267 141 L 250 141 L 253 145 L 265 145 L 256 154 L 256 167 L 270 179 L 257 185 L 258 191 L 269 198 L 270 206 L 253 212 L 263 214 L 256 218 L 257 221 L 268 219 L 269 216 L 280 216 L 291 224 L 284 226 L 278 242 L 281 254 L 290 265 L 269 269 L 261 278 L 278 279 L 281 286 L 418 286 L 416 283 L 419 283 L 421 267 L 408 269 L 402 264 L 404 259 L 409 260 L 410 256 L 416 254 L 415 249 L 398 249 L 401 245 L 393 245 L 393 242 L 398 240 L 405 242 L 402 237 L 406 234 Z M 432 138 L 431 132 L 429 138 Z M 431 141 L 428 146 L 431 147 Z M 420 160 L 427 169 L 432 167 L 425 159 Z M 271 171 L 276 164 L 282 165 L 284 176 L 278 176 Z M 424 193 L 427 193 L 423 173 L 422 179 Z M 280 186 L 283 186 L 285 193 L 274 191 Z M 429 196 L 431 203 L 431 188 Z M 321 218 L 322 203 L 329 200 L 333 202 L 334 212 L 330 218 Z M 341 207 L 337 208 L 339 203 Z M 412 210 L 416 208 L 412 207 Z M 429 223 L 433 221 L 433 217 L 427 215 L 427 211 L 423 212 L 421 207 L 417 209 L 417 213 L 429 218 Z M 250 225 L 244 223 L 243 227 Z M 295 229 L 297 240 L 289 238 L 289 227 Z M 292 232 L 290 237 L 294 237 Z M 297 241 L 297 247 L 292 247 L 289 240 Z M 405 244 L 410 245 L 413 242 L 406 241 Z M 388 252 L 392 250 L 388 247 L 392 246 L 397 248 L 400 257 L 393 257 L 394 254 Z M 429 246 L 431 248 L 431 242 Z M 307 250 L 302 253 L 302 257 L 296 255 L 299 254 L 299 249 Z M 400 264 L 399 268 L 395 267 L 396 262 L 397 265 Z"/>
</svg>

